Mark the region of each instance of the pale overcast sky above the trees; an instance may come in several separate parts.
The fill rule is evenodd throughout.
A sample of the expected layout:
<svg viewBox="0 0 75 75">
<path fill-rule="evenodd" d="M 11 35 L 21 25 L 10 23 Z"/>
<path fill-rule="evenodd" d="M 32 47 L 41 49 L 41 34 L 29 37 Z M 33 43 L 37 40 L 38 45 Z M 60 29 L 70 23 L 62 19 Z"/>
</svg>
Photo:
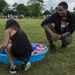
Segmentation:
<svg viewBox="0 0 75 75">
<path fill-rule="evenodd" d="M 28 0 L 5 0 L 8 4 L 13 5 L 14 3 L 27 4 Z M 75 0 L 44 0 L 44 6 L 46 9 L 50 10 L 51 7 L 55 8 L 61 1 L 66 1 L 68 3 L 68 10 L 73 11 L 75 7 Z"/>
</svg>

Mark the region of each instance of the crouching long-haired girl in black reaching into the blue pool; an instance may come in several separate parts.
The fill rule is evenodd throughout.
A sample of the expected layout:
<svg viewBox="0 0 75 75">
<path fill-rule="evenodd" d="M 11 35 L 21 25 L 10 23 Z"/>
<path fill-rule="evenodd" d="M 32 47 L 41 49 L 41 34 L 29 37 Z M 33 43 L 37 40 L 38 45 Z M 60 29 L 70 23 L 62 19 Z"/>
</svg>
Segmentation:
<svg viewBox="0 0 75 75">
<path fill-rule="evenodd" d="M 22 69 L 29 69 L 31 63 L 28 62 L 32 50 L 32 46 L 28 40 L 28 37 L 21 30 L 17 21 L 10 19 L 6 22 L 5 26 L 4 43 L 0 47 L 0 51 L 6 49 L 7 56 L 10 61 L 10 73 L 16 73 L 16 65 L 14 64 L 14 58 L 23 61 Z M 11 40 L 11 44 L 9 44 Z"/>
</svg>

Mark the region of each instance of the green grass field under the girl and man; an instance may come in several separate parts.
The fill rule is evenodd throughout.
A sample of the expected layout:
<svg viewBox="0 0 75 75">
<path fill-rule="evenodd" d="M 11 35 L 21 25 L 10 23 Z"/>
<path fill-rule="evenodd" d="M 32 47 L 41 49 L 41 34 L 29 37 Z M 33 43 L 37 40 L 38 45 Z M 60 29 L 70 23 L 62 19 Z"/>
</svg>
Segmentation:
<svg viewBox="0 0 75 75">
<path fill-rule="evenodd" d="M 0 19 L 0 45 L 3 43 L 4 27 L 7 19 Z M 44 29 L 41 27 L 43 19 L 17 19 L 22 30 L 27 34 L 30 42 L 41 43 L 49 48 Z M 20 65 L 15 75 L 75 75 L 75 32 L 73 42 L 66 49 L 61 49 L 61 41 L 55 42 L 56 53 L 47 52 L 42 61 L 32 63 L 31 68 L 23 72 Z M 9 64 L 0 63 L 0 75 L 11 75 Z"/>
</svg>

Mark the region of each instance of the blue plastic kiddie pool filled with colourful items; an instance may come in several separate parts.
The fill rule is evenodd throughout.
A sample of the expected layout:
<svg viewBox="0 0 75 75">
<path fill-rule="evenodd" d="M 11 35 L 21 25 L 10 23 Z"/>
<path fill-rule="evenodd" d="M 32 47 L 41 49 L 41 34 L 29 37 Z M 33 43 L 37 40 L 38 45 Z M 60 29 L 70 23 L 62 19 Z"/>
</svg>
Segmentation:
<svg viewBox="0 0 75 75">
<path fill-rule="evenodd" d="M 33 63 L 42 60 L 45 57 L 46 52 L 48 51 L 47 46 L 38 43 L 31 43 L 31 45 L 33 48 L 33 52 L 31 53 L 32 55 L 29 59 L 29 62 Z M 0 62 L 9 64 L 9 59 L 5 50 L 0 52 Z M 22 61 L 14 59 L 14 63 L 19 65 L 22 63 Z"/>
</svg>

